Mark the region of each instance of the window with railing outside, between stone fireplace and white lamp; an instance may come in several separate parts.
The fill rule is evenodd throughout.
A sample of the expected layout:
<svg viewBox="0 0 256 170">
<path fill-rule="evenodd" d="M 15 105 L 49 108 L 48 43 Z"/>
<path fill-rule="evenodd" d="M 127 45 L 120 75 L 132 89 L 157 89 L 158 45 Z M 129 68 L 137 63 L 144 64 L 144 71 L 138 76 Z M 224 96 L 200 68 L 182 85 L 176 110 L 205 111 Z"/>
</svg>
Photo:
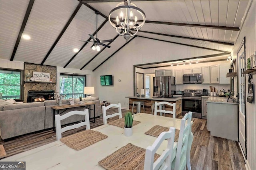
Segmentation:
<svg viewBox="0 0 256 170">
<path fill-rule="evenodd" d="M 85 75 L 60 74 L 60 94 L 66 95 L 66 99 L 85 97 L 85 82 Z"/>
</svg>

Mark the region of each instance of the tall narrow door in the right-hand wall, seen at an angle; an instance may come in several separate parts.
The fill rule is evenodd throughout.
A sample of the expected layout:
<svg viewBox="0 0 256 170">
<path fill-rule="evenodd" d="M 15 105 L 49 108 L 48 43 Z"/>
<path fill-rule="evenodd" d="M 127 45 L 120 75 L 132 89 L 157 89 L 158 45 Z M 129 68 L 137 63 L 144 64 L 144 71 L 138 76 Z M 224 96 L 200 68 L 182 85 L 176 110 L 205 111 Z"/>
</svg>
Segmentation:
<svg viewBox="0 0 256 170">
<path fill-rule="evenodd" d="M 245 41 L 245 39 L 244 39 Z M 246 159 L 246 74 L 245 71 L 245 43 L 241 44 L 237 52 L 238 61 L 238 144 Z"/>
</svg>

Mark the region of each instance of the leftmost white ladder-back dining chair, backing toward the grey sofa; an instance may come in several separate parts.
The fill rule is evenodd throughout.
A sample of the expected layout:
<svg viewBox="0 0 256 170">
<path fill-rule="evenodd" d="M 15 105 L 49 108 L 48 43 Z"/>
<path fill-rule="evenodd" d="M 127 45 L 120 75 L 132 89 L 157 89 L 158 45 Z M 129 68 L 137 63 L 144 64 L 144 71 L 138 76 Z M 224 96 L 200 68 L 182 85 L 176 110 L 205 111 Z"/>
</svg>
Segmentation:
<svg viewBox="0 0 256 170">
<path fill-rule="evenodd" d="M 72 115 L 84 115 L 84 121 L 80 123 L 76 123 L 74 125 L 69 125 L 66 127 L 61 128 L 60 121 L 63 119 L 66 119 L 67 117 L 70 117 Z M 61 134 L 65 131 L 75 129 L 81 126 L 85 126 L 86 129 L 90 129 L 90 119 L 89 119 L 89 112 L 88 109 L 85 109 L 84 111 L 70 111 L 64 115 L 55 115 L 55 125 L 56 125 L 56 139 L 57 141 L 61 139 Z"/>
</svg>

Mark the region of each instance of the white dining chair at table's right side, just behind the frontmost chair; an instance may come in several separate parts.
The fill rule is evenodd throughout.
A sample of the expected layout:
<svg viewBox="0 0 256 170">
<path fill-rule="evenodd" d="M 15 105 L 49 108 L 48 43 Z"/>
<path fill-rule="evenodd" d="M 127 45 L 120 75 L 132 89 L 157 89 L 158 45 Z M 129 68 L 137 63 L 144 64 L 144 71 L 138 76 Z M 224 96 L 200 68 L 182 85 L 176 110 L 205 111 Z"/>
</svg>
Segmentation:
<svg viewBox="0 0 256 170">
<path fill-rule="evenodd" d="M 190 149 L 193 141 L 191 117 L 192 112 L 190 111 L 181 119 L 178 146 L 176 150 L 176 157 L 172 162 L 172 170 L 186 170 L 186 166 L 188 166 L 188 170 L 191 170 Z"/>
</svg>

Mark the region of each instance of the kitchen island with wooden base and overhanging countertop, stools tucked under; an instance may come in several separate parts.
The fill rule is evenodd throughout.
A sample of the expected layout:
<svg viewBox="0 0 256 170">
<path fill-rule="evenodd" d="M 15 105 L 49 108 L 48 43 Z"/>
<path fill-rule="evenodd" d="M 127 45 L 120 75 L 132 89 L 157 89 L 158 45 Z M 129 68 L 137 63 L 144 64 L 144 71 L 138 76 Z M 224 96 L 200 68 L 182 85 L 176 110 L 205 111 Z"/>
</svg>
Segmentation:
<svg viewBox="0 0 256 170">
<path fill-rule="evenodd" d="M 132 103 L 133 102 L 144 102 L 145 106 L 145 113 L 151 114 L 152 111 L 152 104 L 155 102 L 169 102 L 169 103 L 176 103 L 176 117 L 180 116 L 182 113 L 182 98 L 162 98 L 162 97 L 137 97 L 137 96 L 128 96 L 129 98 L 129 110 L 132 111 Z M 171 110 L 172 107 L 165 106 L 166 110 Z M 134 112 L 136 112 L 136 107 L 134 107 Z M 141 112 L 143 109 L 141 109 Z M 154 113 L 154 111 L 153 111 Z M 166 116 L 172 117 L 172 115 L 166 114 Z"/>
</svg>

